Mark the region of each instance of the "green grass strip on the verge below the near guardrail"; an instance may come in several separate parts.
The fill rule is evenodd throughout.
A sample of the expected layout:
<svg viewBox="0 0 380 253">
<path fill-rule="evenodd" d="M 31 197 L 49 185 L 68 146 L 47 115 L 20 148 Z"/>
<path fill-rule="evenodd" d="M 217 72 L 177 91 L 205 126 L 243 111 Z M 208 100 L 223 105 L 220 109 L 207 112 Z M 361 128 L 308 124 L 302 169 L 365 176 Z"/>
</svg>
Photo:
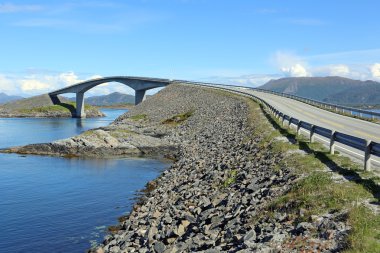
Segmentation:
<svg viewBox="0 0 380 253">
<path fill-rule="evenodd" d="M 365 199 L 379 202 L 380 178 L 365 172 L 361 164 L 353 163 L 347 157 L 330 155 L 322 144 L 309 143 L 308 138 L 296 136 L 293 130 L 283 128 L 281 122 L 265 108 L 262 110 L 266 118 L 255 111 L 255 103 L 249 103 L 254 108 L 250 116 L 256 127 L 253 135 L 261 138 L 260 148 L 269 149 L 273 156 L 283 157 L 271 169 L 293 168 L 294 173 L 301 177 L 285 195 L 273 200 L 261 215 L 252 217 L 251 221 L 271 216 L 275 210 L 287 212 L 296 223 L 310 220 L 311 215 L 345 210 L 348 213 L 347 223 L 352 227 L 345 252 L 380 252 L 380 215 L 362 204 Z M 277 136 L 293 139 L 295 144 L 275 140 Z M 301 149 L 306 154 L 288 152 L 294 149 Z M 332 172 L 324 170 L 326 167 Z M 331 177 L 332 173 L 348 176 L 350 181 L 336 182 Z"/>
</svg>

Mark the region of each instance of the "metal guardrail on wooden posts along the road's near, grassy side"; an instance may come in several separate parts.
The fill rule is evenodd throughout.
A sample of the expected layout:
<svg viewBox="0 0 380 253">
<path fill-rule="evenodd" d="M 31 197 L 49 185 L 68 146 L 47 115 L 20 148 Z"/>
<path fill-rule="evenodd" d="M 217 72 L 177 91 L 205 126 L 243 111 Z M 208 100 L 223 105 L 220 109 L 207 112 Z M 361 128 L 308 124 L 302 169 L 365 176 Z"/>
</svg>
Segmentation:
<svg viewBox="0 0 380 253">
<path fill-rule="evenodd" d="M 371 157 L 377 156 L 380 157 L 380 143 L 359 138 L 356 136 L 336 132 L 333 129 L 327 129 L 321 126 L 313 125 L 305 121 L 301 121 L 297 118 L 294 118 L 292 116 L 286 115 L 282 113 L 280 110 L 276 109 L 272 105 L 268 104 L 265 100 L 246 93 L 244 91 L 239 91 L 232 88 L 226 88 L 226 87 L 238 87 L 238 88 L 249 88 L 244 86 L 234 86 L 234 85 L 224 85 L 224 84 L 213 84 L 213 83 L 201 83 L 201 82 L 191 82 L 191 81 L 182 81 L 182 80 L 174 80 L 173 83 L 186 83 L 186 84 L 192 84 L 192 85 L 198 85 L 198 86 L 205 86 L 205 87 L 212 87 L 215 89 L 221 89 L 221 90 L 228 90 L 233 93 L 241 94 L 247 97 L 251 97 L 254 100 L 260 102 L 263 104 L 276 118 L 278 118 L 282 125 L 285 126 L 285 121 L 288 122 L 288 127 L 291 127 L 291 125 L 295 125 L 297 129 L 297 136 L 301 134 L 301 129 L 307 130 L 309 132 L 309 140 L 311 143 L 315 141 L 315 134 L 318 134 L 320 136 L 323 136 L 325 138 L 328 138 L 330 140 L 330 154 L 335 153 L 335 146 L 336 143 L 341 143 L 344 145 L 347 145 L 349 147 L 355 148 L 357 150 L 360 150 L 364 152 L 364 170 L 370 171 L 371 170 Z M 222 87 L 223 86 L 223 87 Z M 250 88 L 249 88 L 250 89 Z M 257 90 L 257 89 L 256 89 Z M 379 114 L 380 115 L 380 114 Z"/>
</svg>

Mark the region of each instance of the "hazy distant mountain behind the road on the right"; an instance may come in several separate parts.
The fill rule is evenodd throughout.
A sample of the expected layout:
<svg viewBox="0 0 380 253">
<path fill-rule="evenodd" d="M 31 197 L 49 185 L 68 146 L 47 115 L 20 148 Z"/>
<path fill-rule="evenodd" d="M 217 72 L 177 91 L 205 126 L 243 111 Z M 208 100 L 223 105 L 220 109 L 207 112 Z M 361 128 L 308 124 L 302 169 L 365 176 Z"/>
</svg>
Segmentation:
<svg viewBox="0 0 380 253">
<path fill-rule="evenodd" d="M 281 78 L 259 88 L 336 104 L 380 104 L 380 83 L 338 76 Z"/>
</svg>

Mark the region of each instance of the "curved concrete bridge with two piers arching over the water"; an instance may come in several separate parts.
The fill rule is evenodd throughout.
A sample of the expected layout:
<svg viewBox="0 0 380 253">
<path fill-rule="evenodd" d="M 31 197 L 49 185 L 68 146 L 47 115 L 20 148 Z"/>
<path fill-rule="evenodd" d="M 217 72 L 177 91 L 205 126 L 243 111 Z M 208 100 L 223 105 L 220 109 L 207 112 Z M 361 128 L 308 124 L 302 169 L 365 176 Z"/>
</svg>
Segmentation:
<svg viewBox="0 0 380 253">
<path fill-rule="evenodd" d="M 104 77 L 98 79 L 92 79 L 84 81 L 78 84 L 65 87 L 49 93 L 52 101 L 55 103 L 58 100 L 58 95 L 65 93 L 75 93 L 76 94 L 76 117 L 83 118 L 86 117 L 84 113 L 84 93 L 95 86 L 102 83 L 108 82 L 118 82 L 125 84 L 135 90 L 135 104 L 141 103 L 145 99 L 145 92 L 150 89 L 165 87 L 169 85 L 171 80 L 160 79 L 160 78 L 147 78 L 147 77 L 133 77 L 133 76 L 112 76 Z"/>
</svg>

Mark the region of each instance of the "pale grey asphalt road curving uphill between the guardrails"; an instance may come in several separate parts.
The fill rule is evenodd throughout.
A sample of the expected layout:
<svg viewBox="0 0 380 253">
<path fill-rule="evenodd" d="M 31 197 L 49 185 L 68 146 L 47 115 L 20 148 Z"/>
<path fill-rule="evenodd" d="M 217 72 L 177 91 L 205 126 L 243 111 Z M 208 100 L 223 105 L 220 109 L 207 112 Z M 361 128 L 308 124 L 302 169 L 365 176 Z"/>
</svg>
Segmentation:
<svg viewBox="0 0 380 253">
<path fill-rule="evenodd" d="M 231 89 L 231 87 L 228 88 Z M 298 120 L 380 143 L 379 124 L 339 115 L 290 98 L 244 88 L 234 89 L 253 94 L 265 100 L 268 104 L 274 106 L 282 113 L 297 118 Z M 307 130 L 304 130 L 303 132 L 305 135 L 308 135 Z M 316 138 L 326 146 L 329 145 L 329 140 L 327 138 L 318 135 L 316 135 Z M 348 155 L 358 162 L 363 161 L 364 159 L 364 152 L 340 143 L 336 144 L 336 150 Z M 372 156 L 371 161 L 372 169 L 380 171 L 380 158 Z"/>
</svg>

